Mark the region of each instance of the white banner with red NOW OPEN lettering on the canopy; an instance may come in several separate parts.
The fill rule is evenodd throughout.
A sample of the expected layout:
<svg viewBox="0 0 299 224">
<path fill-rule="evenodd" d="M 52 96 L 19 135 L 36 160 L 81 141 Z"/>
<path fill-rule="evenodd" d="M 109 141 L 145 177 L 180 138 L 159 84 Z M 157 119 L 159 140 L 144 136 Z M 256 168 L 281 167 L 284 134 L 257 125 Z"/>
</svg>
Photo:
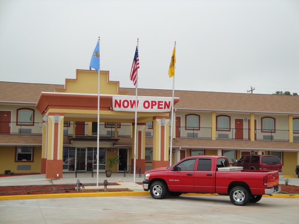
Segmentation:
<svg viewBox="0 0 299 224">
<path fill-rule="evenodd" d="M 135 111 L 135 96 L 113 96 L 114 111 Z M 138 112 L 169 112 L 172 106 L 172 97 L 138 96 Z"/>
</svg>

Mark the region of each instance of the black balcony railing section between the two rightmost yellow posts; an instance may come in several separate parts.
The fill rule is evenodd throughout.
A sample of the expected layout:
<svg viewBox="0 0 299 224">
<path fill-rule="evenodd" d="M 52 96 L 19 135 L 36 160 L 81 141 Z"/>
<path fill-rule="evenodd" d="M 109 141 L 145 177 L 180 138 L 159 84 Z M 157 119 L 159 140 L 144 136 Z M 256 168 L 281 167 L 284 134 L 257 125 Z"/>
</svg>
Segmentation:
<svg viewBox="0 0 299 224">
<path fill-rule="evenodd" d="M 257 140 L 289 140 L 289 130 L 255 129 L 254 132 Z"/>
</svg>

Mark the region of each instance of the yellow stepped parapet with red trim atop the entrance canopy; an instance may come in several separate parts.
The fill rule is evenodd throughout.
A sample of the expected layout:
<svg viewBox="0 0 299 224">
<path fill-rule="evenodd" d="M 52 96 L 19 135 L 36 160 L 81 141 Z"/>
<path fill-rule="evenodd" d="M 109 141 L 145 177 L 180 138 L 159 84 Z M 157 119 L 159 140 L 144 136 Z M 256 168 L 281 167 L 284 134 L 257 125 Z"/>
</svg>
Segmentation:
<svg viewBox="0 0 299 224">
<path fill-rule="evenodd" d="M 66 90 L 55 90 L 55 92 L 97 94 L 97 79 L 98 73 L 94 70 L 77 70 L 77 80 L 66 79 Z M 118 93 L 118 82 L 107 81 L 108 72 L 100 72 L 100 94 L 128 95 L 128 93 Z"/>
</svg>

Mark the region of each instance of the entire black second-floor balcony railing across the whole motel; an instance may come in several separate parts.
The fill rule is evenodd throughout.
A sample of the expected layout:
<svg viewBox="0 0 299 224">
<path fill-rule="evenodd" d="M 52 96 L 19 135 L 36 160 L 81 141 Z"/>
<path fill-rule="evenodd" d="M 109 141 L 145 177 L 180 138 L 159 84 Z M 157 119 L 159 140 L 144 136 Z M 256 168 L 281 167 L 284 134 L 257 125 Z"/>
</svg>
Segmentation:
<svg viewBox="0 0 299 224">
<path fill-rule="evenodd" d="M 73 135 L 72 123 L 64 125 L 63 134 Z M 0 134 L 42 134 L 41 122 L 0 122 Z M 87 136 L 88 124 L 76 124 L 76 135 Z M 92 135 L 97 135 L 97 125 L 91 127 Z M 100 136 L 115 136 L 115 127 L 100 124 Z M 176 127 L 173 133 L 181 138 L 211 138 L 212 128 Z M 169 127 L 169 137 L 171 127 Z M 131 136 L 131 125 L 118 125 L 117 136 Z M 153 127 L 146 126 L 145 136 L 153 136 Z M 261 130 L 255 129 L 256 140 L 289 140 L 289 130 Z M 244 128 L 217 128 L 216 139 L 250 139 L 250 129 Z M 293 134 L 293 140 L 299 141 L 299 133 Z"/>
</svg>

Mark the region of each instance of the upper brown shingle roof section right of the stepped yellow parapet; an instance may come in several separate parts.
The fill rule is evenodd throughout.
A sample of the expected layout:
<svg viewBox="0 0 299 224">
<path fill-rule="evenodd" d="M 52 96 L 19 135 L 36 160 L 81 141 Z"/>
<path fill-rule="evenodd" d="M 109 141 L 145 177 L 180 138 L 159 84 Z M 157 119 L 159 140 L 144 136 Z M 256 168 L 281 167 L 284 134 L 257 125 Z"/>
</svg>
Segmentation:
<svg viewBox="0 0 299 224">
<path fill-rule="evenodd" d="M 120 88 L 135 95 L 134 88 Z M 138 89 L 139 96 L 172 96 L 172 90 Z M 299 96 L 175 90 L 175 108 L 299 113 Z"/>
</svg>

